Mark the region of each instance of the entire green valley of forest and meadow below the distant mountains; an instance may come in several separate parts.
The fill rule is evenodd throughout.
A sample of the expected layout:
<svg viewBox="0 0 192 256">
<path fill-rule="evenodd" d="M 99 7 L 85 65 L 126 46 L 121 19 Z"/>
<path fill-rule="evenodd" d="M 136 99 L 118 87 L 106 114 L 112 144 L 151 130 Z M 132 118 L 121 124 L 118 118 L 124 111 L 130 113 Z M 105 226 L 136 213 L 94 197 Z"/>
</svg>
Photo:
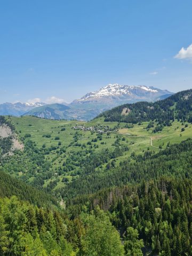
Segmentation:
<svg viewBox="0 0 192 256">
<path fill-rule="evenodd" d="M 1 116 L 0 255 L 192 255 L 191 99 Z"/>
</svg>

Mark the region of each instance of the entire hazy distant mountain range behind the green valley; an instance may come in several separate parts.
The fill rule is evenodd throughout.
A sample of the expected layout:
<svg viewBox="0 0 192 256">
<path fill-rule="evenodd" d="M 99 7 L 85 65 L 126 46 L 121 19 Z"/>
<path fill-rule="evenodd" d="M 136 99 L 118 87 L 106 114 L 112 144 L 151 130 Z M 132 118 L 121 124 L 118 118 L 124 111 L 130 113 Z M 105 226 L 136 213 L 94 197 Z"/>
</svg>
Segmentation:
<svg viewBox="0 0 192 256">
<path fill-rule="evenodd" d="M 0 115 L 34 115 L 48 119 L 90 120 L 102 111 L 124 103 L 162 100 L 172 94 L 167 90 L 143 85 L 109 84 L 98 91 L 87 93 L 67 106 L 66 103 L 49 105 L 43 102 L 3 103 L 0 105 Z"/>
</svg>

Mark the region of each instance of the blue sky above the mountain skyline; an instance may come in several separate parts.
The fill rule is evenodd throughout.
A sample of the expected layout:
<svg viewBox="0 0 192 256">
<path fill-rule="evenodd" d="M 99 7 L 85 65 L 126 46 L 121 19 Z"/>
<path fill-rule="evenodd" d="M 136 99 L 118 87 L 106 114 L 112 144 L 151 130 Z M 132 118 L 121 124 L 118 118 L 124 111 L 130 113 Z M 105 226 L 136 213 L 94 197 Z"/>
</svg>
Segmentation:
<svg viewBox="0 0 192 256">
<path fill-rule="evenodd" d="M 109 83 L 189 89 L 191 10 L 177 0 L 1 1 L 0 102 L 70 102 Z"/>
</svg>

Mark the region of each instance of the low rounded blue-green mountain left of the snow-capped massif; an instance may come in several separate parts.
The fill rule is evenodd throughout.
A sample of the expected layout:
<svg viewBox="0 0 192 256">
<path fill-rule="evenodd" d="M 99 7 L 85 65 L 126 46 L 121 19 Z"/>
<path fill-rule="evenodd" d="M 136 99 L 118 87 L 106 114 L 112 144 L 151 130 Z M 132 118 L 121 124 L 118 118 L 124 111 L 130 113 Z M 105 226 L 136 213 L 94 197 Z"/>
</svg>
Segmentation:
<svg viewBox="0 0 192 256">
<path fill-rule="evenodd" d="M 68 106 L 54 103 L 34 108 L 25 113 L 25 115 L 37 116 L 46 119 L 70 119 L 70 117 L 66 114 L 66 110 L 68 109 Z"/>
</svg>

